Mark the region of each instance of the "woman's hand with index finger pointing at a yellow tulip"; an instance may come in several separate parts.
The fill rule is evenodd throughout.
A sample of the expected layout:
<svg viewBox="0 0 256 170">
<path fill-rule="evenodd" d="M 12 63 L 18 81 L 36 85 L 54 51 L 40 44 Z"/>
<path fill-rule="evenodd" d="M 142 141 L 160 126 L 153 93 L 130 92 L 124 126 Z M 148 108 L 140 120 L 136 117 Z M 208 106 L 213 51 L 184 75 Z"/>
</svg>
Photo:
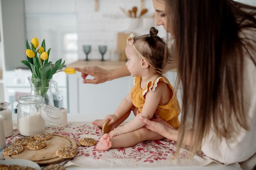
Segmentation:
<svg viewBox="0 0 256 170">
<path fill-rule="evenodd" d="M 74 69 L 81 72 L 81 77 L 85 84 L 99 84 L 108 81 L 109 71 L 98 66 L 86 66 L 84 68 L 74 67 Z M 93 76 L 93 79 L 86 79 L 88 75 Z"/>
</svg>

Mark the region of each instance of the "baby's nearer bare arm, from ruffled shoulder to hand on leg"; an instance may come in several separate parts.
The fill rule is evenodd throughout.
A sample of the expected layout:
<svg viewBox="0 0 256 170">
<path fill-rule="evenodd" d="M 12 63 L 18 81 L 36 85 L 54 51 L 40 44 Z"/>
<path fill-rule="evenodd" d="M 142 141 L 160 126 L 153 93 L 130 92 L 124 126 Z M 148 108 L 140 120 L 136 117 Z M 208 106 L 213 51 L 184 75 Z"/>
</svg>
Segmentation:
<svg viewBox="0 0 256 170">
<path fill-rule="evenodd" d="M 124 126 L 117 127 L 115 130 L 111 131 L 110 137 L 132 132 L 134 130 L 137 130 L 145 126 L 145 124 L 140 121 L 139 117 L 143 116 L 143 117 L 147 117 L 148 119 L 151 119 L 153 117 L 155 110 L 159 105 L 160 99 L 162 97 L 162 93 L 164 91 L 163 90 L 164 88 L 161 88 L 161 86 L 163 85 L 164 84 L 158 84 L 154 92 L 148 91 L 146 94 L 145 103 L 142 108 L 142 112 L 138 114 L 134 119 L 126 123 Z"/>
</svg>

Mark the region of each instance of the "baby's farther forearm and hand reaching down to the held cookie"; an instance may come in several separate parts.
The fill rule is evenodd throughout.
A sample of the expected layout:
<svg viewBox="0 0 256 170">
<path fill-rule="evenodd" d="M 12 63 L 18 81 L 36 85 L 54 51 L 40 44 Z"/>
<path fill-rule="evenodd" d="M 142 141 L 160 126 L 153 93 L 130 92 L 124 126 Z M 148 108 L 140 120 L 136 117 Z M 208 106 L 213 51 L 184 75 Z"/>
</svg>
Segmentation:
<svg viewBox="0 0 256 170">
<path fill-rule="evenodd" d="M 112 115 L 107 115 L 104 118 L 104 121 L 110 120 L 108 125 L 115 123 L 132 108 L 133 104 L 130 95 L 131 93 L 128 93 L 128 95 L 126 95 L 126 97 L 122 100 L 121 104 L 118 106 L 115 113 L 113 113 Z"/>
</svg>

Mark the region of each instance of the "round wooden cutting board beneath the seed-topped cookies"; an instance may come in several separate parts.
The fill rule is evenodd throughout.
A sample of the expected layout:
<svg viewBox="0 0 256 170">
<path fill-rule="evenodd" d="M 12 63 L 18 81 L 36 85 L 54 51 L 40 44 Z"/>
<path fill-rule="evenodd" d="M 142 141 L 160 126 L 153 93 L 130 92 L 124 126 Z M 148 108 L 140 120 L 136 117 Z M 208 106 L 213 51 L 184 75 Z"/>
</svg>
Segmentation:
<svg viewBox="0 0 256 170">
<path fill-rule="evenodd" d="M 70 146 L 76 148 L 76 142 L 74 139 L 63 136 L 52 134 L 52 139 L 46 141 L 47 146 L 40 150 L 29 150 L 24 146 L 25 150 L 17 155 L 7 156 L 4 155 L 5 159 L 27 159 L 36 162 L 40 166 L 47 166 L 52 163 L 60 163 L 67 159 L 56 156 L 56 150 L 60 147 Z"/>
</svg>

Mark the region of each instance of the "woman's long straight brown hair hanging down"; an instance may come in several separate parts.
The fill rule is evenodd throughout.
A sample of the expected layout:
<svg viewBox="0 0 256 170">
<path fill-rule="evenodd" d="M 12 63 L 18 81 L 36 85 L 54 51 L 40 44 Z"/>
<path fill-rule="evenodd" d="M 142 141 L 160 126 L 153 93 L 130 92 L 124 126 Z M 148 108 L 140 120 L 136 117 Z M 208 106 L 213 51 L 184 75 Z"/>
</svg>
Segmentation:
<svg viewBox="0 0 256 170">
<path fill-rule="evenodd" d="M 178 150 L 186 140 L 186 123 L 192 120 L 195 153 L 210 130 L 226 140 L 241 127 L 248 130 L 243 61 L 245 51 L 255 51 L 250 41 L 256 41 L 256 8 L 232 0 L 165 0 L 165 4 L 183 91 Z M 242 38 L 244 29 L 254 29 L 254 40 Z"/>
</svg>

